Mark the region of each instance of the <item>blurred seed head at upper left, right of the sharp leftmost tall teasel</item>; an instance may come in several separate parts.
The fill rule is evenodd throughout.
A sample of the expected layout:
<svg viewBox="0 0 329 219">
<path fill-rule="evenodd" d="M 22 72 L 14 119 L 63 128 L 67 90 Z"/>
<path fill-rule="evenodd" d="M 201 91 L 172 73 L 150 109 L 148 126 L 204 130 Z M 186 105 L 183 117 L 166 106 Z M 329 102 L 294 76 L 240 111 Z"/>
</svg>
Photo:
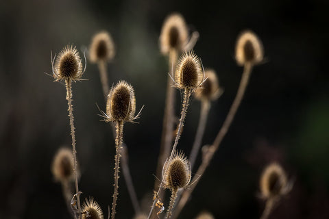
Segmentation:
<svg viewBox="0 0 329 219">
<path fill-rule="evenodd" d="M 90 44 L 90 62 L 110 61 L 115 55 L 114 43 L 110 34 L 101 31 L 96 34 Z"/>
</svg>

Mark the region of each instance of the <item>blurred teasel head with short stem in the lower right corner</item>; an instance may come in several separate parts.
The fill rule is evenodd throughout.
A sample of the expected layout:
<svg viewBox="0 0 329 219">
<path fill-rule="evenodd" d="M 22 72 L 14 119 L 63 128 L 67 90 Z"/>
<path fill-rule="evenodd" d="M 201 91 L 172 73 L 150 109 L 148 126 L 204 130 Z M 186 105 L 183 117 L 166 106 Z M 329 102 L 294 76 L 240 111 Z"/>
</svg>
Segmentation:
<svg viewBox="0 0 329 219">
<path fill-rule="evenodd" d="M 282 196 L 287 195 L 293 188 L 293 182 L 288 181 L 287 174 L 278 163 L 265 167 L 260 176 L 260 198 L 266 201 L 265 209 L 260 219 L 267 219 L 271 211 L 279 203 Z"/>
</svg>

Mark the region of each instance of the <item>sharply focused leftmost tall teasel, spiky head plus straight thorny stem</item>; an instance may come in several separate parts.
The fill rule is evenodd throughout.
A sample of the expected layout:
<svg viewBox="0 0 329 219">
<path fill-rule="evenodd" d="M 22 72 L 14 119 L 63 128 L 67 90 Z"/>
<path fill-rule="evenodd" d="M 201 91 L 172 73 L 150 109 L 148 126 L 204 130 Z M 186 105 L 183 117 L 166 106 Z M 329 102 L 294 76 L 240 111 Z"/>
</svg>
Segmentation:
<svg viewBox="0 0 329 219">
<path fill-rule="evenodd" d="M 77 218 L 82 218 L 81 205 L 80 205 L 80 194 L 78 181 L 77 181 L 77 150 L 75 146 L 75 127 L 74 127 L 74 117 L 73 117 L 73 104 L 72 104 L 72 82 L 81 81 L 82 75 L 86 71 L 86 56 L 84 55 L 84 69 L 82 68 L 82 60 L 80 55 L 73 45 L 66 46 L 56 59 L 56 54 L 52 57 L 51 54 L 51 68 L 53 77 L 55 81 L 64 81 L 66 86 L 66 100 L 69 106 L 69 118 L 71 127 L 71 137 L 72 137 L 72 153 L 73 153 L 73 173 L 75 179 L 75 196 L 77 199 Z M 75 212 L 76 214 L 76 212 Z"/>
</svg>

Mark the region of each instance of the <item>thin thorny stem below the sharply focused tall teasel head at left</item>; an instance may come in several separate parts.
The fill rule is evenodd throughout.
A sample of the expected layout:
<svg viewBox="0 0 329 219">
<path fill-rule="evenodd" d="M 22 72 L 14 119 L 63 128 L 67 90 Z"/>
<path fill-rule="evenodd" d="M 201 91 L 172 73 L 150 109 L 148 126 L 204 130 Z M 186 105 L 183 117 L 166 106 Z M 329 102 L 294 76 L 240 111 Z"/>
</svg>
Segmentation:
<svg viewBox="0 0 329 219">
<path fill-rule="evenodd" d="M 75 149 L 75 131 L 74 131 L 74 117 L 73 117 L 73 105 L 72 105 L 72 81 L 70 79 L 65 80 L 66 83 L 66 100 L 69 105 L 69 118 L 70 118 L 70 126 L 71 126 L 71 136 L 72 136 L 72 153 L 73 153 L 73 172 L 75 179 L 75 194 L 77 194 L 77 209 L 79 210 L 79 218 L 82 218 L 81 215 L 81 205 L 80 205 L 80 193 L 79 187 L 77 185 L 77 151 Z"/>
</svg>

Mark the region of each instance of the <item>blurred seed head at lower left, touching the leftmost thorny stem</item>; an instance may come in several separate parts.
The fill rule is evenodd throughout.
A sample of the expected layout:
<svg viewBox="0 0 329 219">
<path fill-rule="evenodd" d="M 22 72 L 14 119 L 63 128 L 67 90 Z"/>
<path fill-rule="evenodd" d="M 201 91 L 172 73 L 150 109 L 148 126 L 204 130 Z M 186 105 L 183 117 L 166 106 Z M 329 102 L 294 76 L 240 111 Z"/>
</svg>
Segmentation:
<svg viewBox="0 0 329 219">
<path fill-rule="evenodd" d="M 66 183 L 74 180 L 74 162 L 72 150 L 62 147 L 53 157 L 51 172 L 56 181 Z"/>
</svg>

